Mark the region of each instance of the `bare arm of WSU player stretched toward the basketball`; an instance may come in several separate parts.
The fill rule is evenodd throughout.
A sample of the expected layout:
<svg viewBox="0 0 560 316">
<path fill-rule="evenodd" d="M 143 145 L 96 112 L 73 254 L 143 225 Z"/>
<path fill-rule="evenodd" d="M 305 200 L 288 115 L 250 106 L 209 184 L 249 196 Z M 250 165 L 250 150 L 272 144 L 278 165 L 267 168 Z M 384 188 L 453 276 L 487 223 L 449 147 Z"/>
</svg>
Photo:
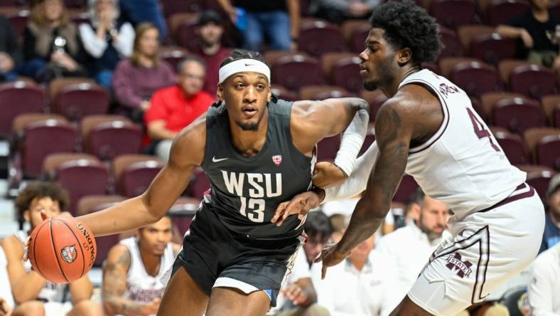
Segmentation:
<svg viewBox="0 0 560 316">
<path fill-rule="evenodd" d="M 193 169 L 202 164 L 205 143 L 206 120 L 200 117 L 173 139 L 168 163 L 144 194 L 77 219 L 95 236 L 122 233 L 155 223 L 185 191 Z"/>
</svg>

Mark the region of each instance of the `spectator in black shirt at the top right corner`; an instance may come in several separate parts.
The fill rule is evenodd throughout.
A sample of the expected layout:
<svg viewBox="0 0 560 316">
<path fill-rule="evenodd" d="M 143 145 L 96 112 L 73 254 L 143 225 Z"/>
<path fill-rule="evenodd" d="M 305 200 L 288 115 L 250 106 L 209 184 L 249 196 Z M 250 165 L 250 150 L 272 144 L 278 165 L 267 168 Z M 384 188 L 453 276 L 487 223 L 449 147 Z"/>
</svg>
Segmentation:
<svg viewBox="0 0 560 316">
<path fill-rule="evenodd" d="M 560 18 L 548 10 L 549 0 L 530 0 L 531 11 L 497 26 L 502 36 L 519 38 L 527 51 L 527 60 L 560 71 Z"/>
</svg>

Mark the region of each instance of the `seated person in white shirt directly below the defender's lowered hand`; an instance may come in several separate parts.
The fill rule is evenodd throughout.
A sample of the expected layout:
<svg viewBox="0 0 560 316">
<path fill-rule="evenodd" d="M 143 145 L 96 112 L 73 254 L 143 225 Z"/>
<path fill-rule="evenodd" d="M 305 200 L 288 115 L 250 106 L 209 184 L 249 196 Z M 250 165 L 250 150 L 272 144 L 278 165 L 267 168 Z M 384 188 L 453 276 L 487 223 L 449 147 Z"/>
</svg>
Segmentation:
<svg viewBox="0 0 560 316">
<path fill-rule="evenodd" d="M 372 251 L 373 246 L 375 235 L 354 248 L 342 263 L 330 268 L 316 286 L 318 303 L 330 315 L 389 315 L 399 303 L 394 295 L 394 264 L 379 251 Z"/>
</svg>

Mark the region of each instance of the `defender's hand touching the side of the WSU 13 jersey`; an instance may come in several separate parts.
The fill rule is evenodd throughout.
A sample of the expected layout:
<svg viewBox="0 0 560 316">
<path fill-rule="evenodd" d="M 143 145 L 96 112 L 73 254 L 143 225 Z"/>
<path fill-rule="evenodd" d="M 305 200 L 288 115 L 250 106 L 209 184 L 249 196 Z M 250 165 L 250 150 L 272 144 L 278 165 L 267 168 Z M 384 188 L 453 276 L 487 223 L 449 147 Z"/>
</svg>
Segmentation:
<svg viewBox="0 0 560 316">
<path fill-rule="evenodd" d="M 276 226 L 280 226 L 288 216 L 296 214 L 298 219 L 303 221 L 308 212 L 315 209 L 319 204 L 321 204 L 321 196 L 316 192 L 306 191 L 300 193 L 294 196 L 290 201 L 279 204 L 278 207 L 276 207 L 276 213 L 274 213 L 270 221 L 276 223 Z"/>
</svg>

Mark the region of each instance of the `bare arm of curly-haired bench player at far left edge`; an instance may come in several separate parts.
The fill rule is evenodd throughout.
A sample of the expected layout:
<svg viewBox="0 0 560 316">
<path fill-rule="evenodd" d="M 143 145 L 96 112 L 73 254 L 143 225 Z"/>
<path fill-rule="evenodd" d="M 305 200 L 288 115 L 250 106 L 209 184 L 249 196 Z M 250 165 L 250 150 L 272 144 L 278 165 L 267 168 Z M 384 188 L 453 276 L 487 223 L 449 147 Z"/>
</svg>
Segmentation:
<svg viewBox="0 0 560 316">
<path fill-rule="evenodd" d="M 45 287 L 47 281 L 35 271 L 26 272 L 23 268 L 23 246 L 16 236 L 9 236 L 2 241 L 2 248 L 8 261 L 7 270 L 11 292 L 17 304 L 35 300 Z"/>
</svg>

